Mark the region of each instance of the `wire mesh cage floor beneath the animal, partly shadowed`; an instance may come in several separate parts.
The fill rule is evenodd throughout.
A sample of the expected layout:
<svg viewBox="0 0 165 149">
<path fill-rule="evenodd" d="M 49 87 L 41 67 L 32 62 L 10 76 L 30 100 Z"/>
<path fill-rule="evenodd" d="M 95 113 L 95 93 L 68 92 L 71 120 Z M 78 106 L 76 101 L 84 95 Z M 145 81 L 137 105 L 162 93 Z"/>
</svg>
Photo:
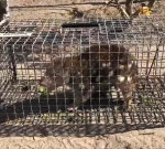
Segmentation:
<svg viewBox="0 0 165 149">
<path fill-rule="evenodd" d="M 65 110 L 66 99 L 55 96 L 40 96 L 36 92 L 22 92 L 21 84 L 7 83 L 1 92 L 0 116 L 1 124 L 22 125 L 67 125 L 67 124 L 106 124 L 106 125 L 155 125 L 165 123 L 165 86 L 160 77 L 139 81 L 139 88 L 134 93 L 134 103 L 130 110 L 124 110 L 120 102 L 110 99 L 89 99 L 84 107 L 76 111 Z M 59 97 L 59 96 L 56 96 Z M 66 97 L 66 96 L 65 96 Z M 72 98 L 72 97 L 70 97 Z"/>
</svg>

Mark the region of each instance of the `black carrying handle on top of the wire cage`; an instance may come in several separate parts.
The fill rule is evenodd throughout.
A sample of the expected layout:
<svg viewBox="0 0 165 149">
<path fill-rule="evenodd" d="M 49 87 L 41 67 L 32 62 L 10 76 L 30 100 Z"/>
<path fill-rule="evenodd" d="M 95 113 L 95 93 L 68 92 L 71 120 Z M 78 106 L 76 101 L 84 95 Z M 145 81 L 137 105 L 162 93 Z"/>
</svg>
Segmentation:
<svg viewBox="0 0 165 149">
<path fill-rule="evenodd" d="M 90 23 L 64 23 L 62 28 L 99 28 L 98 22 L 90 22 Z"/>
</svg>

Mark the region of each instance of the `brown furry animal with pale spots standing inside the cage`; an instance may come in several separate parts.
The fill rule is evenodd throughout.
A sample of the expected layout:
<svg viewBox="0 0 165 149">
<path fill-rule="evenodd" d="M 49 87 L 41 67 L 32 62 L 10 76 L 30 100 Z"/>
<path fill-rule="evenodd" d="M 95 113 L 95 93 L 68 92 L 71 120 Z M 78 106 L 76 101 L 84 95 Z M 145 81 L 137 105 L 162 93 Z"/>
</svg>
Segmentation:
<svg viewBox="0 0 165 149">
<path fill-rule="evenodd" d="M 75 93 L 75 107 L 87 102 L 92 93 L 114 86 L 123 95 L 125 108 L 132 100 L 138 78 L 138 66 L 129 51 L 121 46 L 92 45 L 78 56 L 58 57 L 46 70 L 40 85 L 52 92 L 69 85 Z"/>
</svg>

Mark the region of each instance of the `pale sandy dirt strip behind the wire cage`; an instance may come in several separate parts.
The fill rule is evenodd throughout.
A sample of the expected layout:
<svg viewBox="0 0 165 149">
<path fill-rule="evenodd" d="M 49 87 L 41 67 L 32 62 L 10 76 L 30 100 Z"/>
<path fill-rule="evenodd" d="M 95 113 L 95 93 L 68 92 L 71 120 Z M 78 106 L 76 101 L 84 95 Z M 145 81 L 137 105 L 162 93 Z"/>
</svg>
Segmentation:
<svg viewBox="0 0 165 149">
<path fill-rule="evenodd" d="M 106 0 L 11 0 L 10 15 L 13 20 L 22 19 L 63 19 L 76 18 L 73 8 L 82 12 L 85 17 L 117 18 L 120 13 L 114 7 L 92 4 L 92 2 L 105 2 Z M 90 3 L 91 2 L 91 3 Z"/>
</svg>

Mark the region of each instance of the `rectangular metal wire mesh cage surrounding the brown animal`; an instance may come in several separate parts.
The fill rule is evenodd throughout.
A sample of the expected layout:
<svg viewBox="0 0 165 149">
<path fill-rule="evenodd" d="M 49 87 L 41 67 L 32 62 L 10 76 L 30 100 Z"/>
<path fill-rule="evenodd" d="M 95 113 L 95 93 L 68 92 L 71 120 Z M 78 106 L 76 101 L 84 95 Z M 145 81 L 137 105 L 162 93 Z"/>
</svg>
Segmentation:
<svg viewBox="0 0 165 149">
<path fill-rule="evenodd" d="M 10 21 L 1 28 L 0 46 L 0 119 L 1 123 L 16 125 L 164 125 L 164 18 L 150 17 L 129 19 L 75 19 L 74 22 L 59 20 L 26 20 Z M 133 91 L 133 108 L 123 109 L 123 95 L 118 88 L 101 91 L 101 47 L 113 44 L 123 45 L 133 55 L 138 66 L 138 85 Z M 94 70 L 92 46 L 99 47 L 100 54 L 97 74 L 97 91 L 92 92 Z M 91 52 L 89 61 L 84 61 L 81 53 L 86 49 Z M 102 52 L 103 53 L 103 52 Z M 110 55 L 111 51 L 106 53 Z M 113 53 L 112 53 L 113 54 Z M 78 61 L 76 60 L 78 57 Z M 70 70 L 87 67 L 87 81 L 79 77 L 78 85 L 89 85 L 88 89 L 79 89 L 82 94 L 89 92 L 89 99 L 76 110 L 68 110 L 68 105 L 76 100 L 76 76 L 69 76 L 64 67 L 54 66 L 70 64 Z M 102 60 L 103 61 L 103 60 Z M 70 63 L 69 63 L 70 62 Z M 117 66 L 119 65 L 118 57 Z M 128 62 L 128 61 L 127 61 Z M 110 63 L 110 62 L 109 62 Z M 129 65 L 129 64 L 125 64 Z M 40 81 L 45 76 L 46 68 L 52 75 L 62 76 L 63 83 L 54 91 L 40 92 Z M 68 67 L 67 67 L 68 68 Z M 48 71 L 50 71 L 48 70 Z M 72 70 L 72 71 L 73 71 Z M 109 70 L 110 71 L 110 70 Z M 74 72 L 74 71 L 73 71 Z M 117 71 L 118 72 L 118 71 Z M 124 74 L 124 73 L 123 73 Z M 118 73 L 117 73 L 118 75 Z M 121 75 L 121 74 L 120 74 Z M 127 74 L 125 74 L 127 75 Z M 111 78 L 107 81 L 111 84 Z M 69 85 L 68 85 L 69 84 Z M 77 87 L 78 88 L 78 87 Z M 107 97 L 109 93 L 110 97 Z M 103 95 L 102 95 L 103 94 Z"/>
</svg>

